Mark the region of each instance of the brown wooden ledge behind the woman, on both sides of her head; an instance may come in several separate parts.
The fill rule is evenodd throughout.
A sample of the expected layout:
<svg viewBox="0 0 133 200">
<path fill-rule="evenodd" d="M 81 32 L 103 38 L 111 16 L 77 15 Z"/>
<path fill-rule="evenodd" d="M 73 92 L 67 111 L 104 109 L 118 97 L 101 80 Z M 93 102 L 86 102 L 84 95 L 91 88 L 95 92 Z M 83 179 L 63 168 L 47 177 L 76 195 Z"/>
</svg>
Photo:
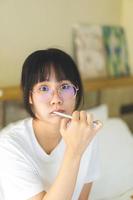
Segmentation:
<svg viewBox="0 0 133 200">
<path fill-rule="evenodd" d="M 122 78 L 93 79 L 83 81 L 85 91 L 102 91 L 108 88 L 133 86 L 133 76 Z M 22 100 L 22 92 L 19 86 L 0 88 L 0 100 Z"/>
</svg>

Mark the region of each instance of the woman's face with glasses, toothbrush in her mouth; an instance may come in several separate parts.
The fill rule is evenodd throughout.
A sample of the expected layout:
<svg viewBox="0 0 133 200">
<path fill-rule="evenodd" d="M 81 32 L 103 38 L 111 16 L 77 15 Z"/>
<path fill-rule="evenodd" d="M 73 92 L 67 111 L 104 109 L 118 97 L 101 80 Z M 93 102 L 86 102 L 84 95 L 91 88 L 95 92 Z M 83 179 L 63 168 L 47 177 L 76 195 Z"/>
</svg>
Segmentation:
<svg viewBox="0 0 133 200">
<path fill-rule="evenodd" d="M 59 123 L 61 117 L 53 114 L 54 111 L 71 115 L 76 103 L 76 96 L 71 93 L 72 89 L 69 80 L 58 82 L 54 70 L 51 70 L 49 80 L 34 85 L 29 98 L 37 119 Z"/>
</svg>

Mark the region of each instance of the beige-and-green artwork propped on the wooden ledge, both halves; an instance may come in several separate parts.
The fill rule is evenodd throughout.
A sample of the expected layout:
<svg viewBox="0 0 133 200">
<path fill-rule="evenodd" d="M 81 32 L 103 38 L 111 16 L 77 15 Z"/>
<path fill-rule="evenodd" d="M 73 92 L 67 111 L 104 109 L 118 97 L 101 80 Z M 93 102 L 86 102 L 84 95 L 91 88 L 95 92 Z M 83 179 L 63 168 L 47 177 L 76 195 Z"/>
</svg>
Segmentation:
<svg viewBox="0 0 133 200">
<path fill-rule="evenodd" d="M 74 52 L 83 79 L 130 74 L 125 33 L 122 27 L 77 25 Z"/>
</svg>

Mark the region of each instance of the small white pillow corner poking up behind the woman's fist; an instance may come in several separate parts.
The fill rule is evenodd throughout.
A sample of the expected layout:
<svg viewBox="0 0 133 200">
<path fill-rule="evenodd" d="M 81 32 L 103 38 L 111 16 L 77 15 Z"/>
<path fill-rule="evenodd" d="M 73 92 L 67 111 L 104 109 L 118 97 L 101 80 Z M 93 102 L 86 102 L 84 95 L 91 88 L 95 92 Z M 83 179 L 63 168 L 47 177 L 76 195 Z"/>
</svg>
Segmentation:
<svg viewBox="0 0 133 200">
<path fill-rule="evenodd" d="M 88 109 L 87 112 L 93 115 L 94 120 L 105 122 L 108 119 L 108 107 L 106 104 L 101 104 L 97 107 Z"/>
</svg>

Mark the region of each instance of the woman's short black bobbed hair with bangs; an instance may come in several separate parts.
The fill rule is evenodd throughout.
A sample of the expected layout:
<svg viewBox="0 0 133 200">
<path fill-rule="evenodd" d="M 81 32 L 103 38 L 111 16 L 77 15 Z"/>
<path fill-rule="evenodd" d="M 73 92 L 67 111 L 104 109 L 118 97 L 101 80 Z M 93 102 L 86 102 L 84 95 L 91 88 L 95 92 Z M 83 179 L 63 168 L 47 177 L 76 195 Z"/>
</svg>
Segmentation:
<svg viewBox="0 0 133 200">
<path fill-rule="evenodd" d="M 30 92 L 38 82 L 48 80 L 54 69 L 58 81 L 69 80 L 79 88 L 75 109 L 83 103 L 83 86 L 78 68 L 70 55 L 56 48 L 38 50 L 30 54 L 24 61 L 21 76 L 24 105 L 28 113 L 35 118 L 29 103 Z"/>
</svg>

